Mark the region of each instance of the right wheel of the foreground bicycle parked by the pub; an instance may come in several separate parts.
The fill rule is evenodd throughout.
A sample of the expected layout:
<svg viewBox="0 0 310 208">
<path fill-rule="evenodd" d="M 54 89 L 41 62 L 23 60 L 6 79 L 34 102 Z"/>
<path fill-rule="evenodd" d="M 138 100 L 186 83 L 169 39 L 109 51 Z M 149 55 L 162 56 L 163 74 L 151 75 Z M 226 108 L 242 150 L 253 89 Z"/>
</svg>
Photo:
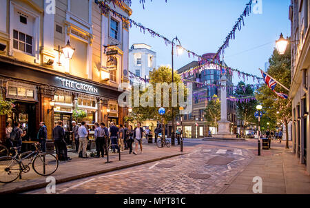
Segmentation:
<svg viewBox="0 0 310 208">
<path fill-rule="evenodd" d="M 40 176 L 50 176 L 57 170 L 58 160 L 52 154 L 40 153 L 34 158 L 32 168 Z"/>
</svg>

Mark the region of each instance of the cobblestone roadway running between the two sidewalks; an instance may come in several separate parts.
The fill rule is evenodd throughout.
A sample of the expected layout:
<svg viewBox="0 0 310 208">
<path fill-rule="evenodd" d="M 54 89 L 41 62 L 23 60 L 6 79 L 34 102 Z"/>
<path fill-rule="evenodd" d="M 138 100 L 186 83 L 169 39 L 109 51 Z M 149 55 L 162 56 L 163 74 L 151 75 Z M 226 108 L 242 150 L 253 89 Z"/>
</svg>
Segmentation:
<svg viewBox="0 0 310 208">
<path fill-rule="evenodd" d="M 56 185 L 56 194 L 217 194 L 254 158 L 247 149 L 198 143 L 183 156 Z"/>
</svg>

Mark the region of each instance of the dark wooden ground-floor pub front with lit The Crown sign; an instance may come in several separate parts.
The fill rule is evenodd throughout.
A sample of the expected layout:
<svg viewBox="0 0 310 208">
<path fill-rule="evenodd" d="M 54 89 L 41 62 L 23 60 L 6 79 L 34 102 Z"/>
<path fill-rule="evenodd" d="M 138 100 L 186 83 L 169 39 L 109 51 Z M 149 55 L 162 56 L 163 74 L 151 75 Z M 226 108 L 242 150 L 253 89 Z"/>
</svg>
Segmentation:
<svg viewBox="0 0 310 208">
<path fill-rule="evenodd" d="M 48 139 L 52 138 L 52 128 L 59 120 L 63 121 L 65 141 L 74 147 L 72 140 L 72 121 L 87 123 L 89 140 L 94 140 L 94 123 L 123 123 L 127 109 L 117 104 L 119 92 L 115 87 L 94 81 L 62 74 L 45 67 L 27 67 L 25 63 L 0 57 L 1 96 L 13 100 L 15 107 L 12 114 L 0 116 L 1 140 L 5 136 L 6 122 L 21 123 L 27 134 L 23 141 L 36 141 L 39 123 L 48 127 Z M 74 118 L 73 110 L 85 110 L 87 116 Z M 73 143 L 73 145 L 72 145 Z"/>
</svg>

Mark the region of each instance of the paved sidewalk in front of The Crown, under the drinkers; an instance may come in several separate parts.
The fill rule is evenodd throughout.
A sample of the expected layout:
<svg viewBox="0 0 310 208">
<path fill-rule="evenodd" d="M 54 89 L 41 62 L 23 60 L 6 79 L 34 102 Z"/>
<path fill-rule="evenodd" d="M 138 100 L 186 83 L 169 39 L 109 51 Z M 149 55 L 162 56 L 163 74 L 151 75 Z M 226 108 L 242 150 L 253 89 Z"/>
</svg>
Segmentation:
<svg viewBox="0 0 310 208">
<path fill-rule="evenodd" d="M 185 147 L 183 154 L 189 153 L 193 148 L 194 147 Z M 154 143 L 145 143 L 143 144 L 143 154 L 140 154 L 140 149 L 138 150 L 138 155 L 129 154 L 129 151 L 125 151 L 121 154 L 121 161 L 119 161 L 118 154 L 110 153 L 109 161 L 112 161 L 112 163 L 107 164 L 105 163 L 107 161 L 106 156 L 105 158 L 79 158 L 78 154 L 69 152 L 68 156 L 70 156 L 72 160 L 67 162 L 60 161 L 59 168 L 54 174 L 52 174 L 52 176 L 56 178 L 57 184 L 64 183 L 70 180 L 103 174 L 109 171 L 152 163 L 157 160 L 163 160 L 180 154 L 180 146 L 159 149 Z M 87 156 L 89 155 L 90 152 L 87 152 Z M 0 194 L 21 193 L 23 191 L 46 187 L 48 184 L 45 182 L 46 178 L 47 177 L 45 176 L 37 175 L 31 167 L 30 172 L 22 174 L 22 179 L 17 179 L 8 184 L 0 183 Z"/>
</svg>

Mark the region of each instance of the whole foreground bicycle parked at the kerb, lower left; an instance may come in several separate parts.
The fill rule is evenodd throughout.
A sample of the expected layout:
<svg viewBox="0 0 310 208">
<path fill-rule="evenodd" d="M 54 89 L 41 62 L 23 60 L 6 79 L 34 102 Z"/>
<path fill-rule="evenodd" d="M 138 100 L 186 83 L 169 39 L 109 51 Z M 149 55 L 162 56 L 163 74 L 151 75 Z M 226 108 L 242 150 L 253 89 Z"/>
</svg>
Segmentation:
<svg viewBox="0 0 310 208">
<path fill-rule="evenodd" d="M 11 183 L 17 178 L 21 178 L 22 173 L 32 169 L 40 176 L 50 176 L 58 169 L 59 163 L 56 157 L 49 153 L 44 153 L 39 150 L 39 145 L 34 144 L 36 150 L 18 154 L 17 149 L 20 147 L 11 148 L 15 151 L 15 156 L 0 157 L 0 183 Z M 26 164 L 23 161 L 28 160 Z"/>
</svg>

